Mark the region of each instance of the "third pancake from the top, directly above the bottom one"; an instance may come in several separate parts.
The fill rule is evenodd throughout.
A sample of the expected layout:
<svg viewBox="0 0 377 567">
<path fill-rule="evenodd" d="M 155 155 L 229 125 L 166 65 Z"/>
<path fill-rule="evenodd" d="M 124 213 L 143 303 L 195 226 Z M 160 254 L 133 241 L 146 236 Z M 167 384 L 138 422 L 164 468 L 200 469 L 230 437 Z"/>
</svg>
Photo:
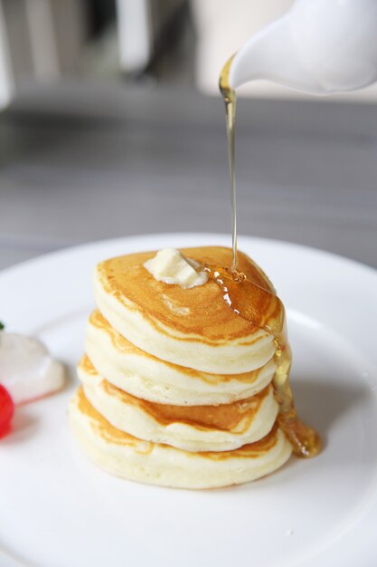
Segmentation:
<svg viewBox="0 0 377 567">
<path fill-rule="evenodd" d="M 221 406 L 171 406 L 112 386 L 87 356 L 78 367 L 86 398 L 108 422 L 134 437 L 185 451 L 225 451 L 259 441 L 278 415 L 272 384 L 250 399 Z"/>
</svg>

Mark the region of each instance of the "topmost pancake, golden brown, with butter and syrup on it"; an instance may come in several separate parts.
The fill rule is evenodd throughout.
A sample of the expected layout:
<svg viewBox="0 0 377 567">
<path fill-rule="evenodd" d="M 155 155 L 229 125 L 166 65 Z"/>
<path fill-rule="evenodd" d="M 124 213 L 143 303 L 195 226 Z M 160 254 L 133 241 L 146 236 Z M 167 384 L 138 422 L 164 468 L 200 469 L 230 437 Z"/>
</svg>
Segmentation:
<svg viewBox="0 0 377 567">
<path fill-rule="evenodd" d="M 231 249 L 186 248 L 200 264 L 231 265 Z M 261 368 L 275 353 L 270 332 L 250 325 L 222 301 L 212 279 L 182 289 L 156 281 L 143 264 L 156 252 L 118 256 L 97 266 L 96 302 L 108 322 L 142 351 L 174 364 L 212 374 L 239 374 Z M 247 255 L 240 272 L 274 292 L 269 279 Z"/>
</svg>

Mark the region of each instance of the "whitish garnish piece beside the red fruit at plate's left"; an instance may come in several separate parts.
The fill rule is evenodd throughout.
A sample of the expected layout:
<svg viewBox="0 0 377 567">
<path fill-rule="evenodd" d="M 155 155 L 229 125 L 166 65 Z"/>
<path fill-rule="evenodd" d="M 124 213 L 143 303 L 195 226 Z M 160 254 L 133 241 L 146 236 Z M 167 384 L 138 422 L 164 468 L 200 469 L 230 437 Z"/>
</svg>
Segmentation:
<svg viewBox="0 0 377 567">
<path fill-rule="evenodd" d="M 21 404 L 61 389 L 64 367 L 52 359 L 41 341 L 0 332 L 0 384 L 8 390 L 14 404 Z"/>
</svg>

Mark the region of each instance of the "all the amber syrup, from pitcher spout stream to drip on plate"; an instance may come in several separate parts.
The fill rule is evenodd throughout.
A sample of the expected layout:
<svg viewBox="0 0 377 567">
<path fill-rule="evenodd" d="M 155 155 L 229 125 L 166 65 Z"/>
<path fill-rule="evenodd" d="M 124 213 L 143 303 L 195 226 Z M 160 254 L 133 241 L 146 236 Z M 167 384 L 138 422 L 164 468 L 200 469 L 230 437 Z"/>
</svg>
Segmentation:
<svg viewBox="0 0 377 567">
<path fill-rule="evenodd" d="M 232 59 L 231 57 L 226 62 L 221 71 L 220 91 L 225 103 L 228 135 L 233 259 L 231 268 L 206 266 L 205 269 L 221 287 L 223 299 L 237 315 L 250 322 L 253 327 L 267 331 L 274 336 L 275 360 L 278 367 L 274 376 L 274 387 L 279 403 L 278 424 L 287 435 L 297 456 L 316 456 L 322 447 L 321 438 L 314 429 L 307 427 L 298 418 L 289 385 L 292 356 L 287 342 L 284 305 L 271 290 L 260 287 L 237 270 L 237 208 L 234 168 L 237 94 L 229 84 Z"/>
</svg>

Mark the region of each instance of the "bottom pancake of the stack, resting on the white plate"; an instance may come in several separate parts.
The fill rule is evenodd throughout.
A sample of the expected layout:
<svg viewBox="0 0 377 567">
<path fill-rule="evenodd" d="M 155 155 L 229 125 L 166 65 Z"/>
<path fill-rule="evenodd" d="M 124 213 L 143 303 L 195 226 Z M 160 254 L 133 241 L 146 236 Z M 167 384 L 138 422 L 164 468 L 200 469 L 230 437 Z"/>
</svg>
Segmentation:
<svg viewBox="0 0 377 567">
<path fill-rule="evenodd" d="M 119 431 L 94 409 L 80 388 L 71 400 L 71 427 L 81 448 L 112 475 L 151 485 L 216 488 L 269 475 L 286 463 L 292 447 L 274 427 L 268 436 L 233 451 L 190 453 Z"/>
</svg>

